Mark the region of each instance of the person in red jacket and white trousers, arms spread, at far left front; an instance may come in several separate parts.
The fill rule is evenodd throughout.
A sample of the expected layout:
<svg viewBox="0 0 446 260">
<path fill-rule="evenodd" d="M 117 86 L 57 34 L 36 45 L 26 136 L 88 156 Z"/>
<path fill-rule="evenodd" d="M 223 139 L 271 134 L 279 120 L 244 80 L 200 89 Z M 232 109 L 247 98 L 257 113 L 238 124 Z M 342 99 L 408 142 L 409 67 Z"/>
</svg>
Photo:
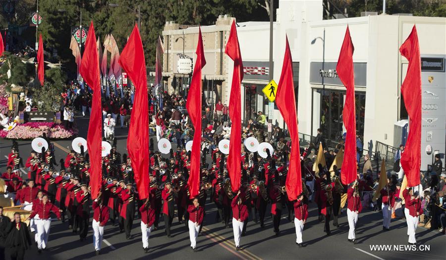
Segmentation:
<svg viewBox="0 0 446 260">
<path fill-rule="evenodd" d="M 48 201 L 48 196 L 44 195 L 42 197 L 42 203 L 33 210 L 31 215 L 27 218 L 30 220 L 35 215 L 39 214 L 39 220 L 37 221 L 37 248 L 39 254 L 42 249 L 47 248 L 48 237 L 50 236 L 50 226 L 51 226 L 51 212 L 56 214 L 57 219 L 60 220 L 60 209 L 56 207 L 53 203 Z"/>
</svg>

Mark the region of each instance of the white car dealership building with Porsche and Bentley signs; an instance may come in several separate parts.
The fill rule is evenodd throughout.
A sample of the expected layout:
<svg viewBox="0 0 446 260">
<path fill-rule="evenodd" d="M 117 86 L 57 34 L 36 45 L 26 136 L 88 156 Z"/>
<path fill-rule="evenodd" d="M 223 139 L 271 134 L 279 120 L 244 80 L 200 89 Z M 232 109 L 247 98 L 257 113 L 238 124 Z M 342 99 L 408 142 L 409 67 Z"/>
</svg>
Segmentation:
<svg viewBox="0 0 446 260">
<path fill-rule="evenodd" d="M 407 120 L 400 86 L 408 63 L 400 55 L 399 47 L 415 24 L 425 65 L 422 66 L 422 169 L 426 169 L 433 153 L 444 154 L 446 146 L 446 18 L 372 15 L 323 20 L 322 14 L 322 0 L 279 1 L 274 23 L 274 68 L 269 68 L 269 23 L 238 23 L 245 67 L 243 120 L 257 111 L 268 114 L 268 100 L 262 88 L 272 71 L 279 83 L 287 35 L 298 97 L 299 132 L 316 135 L 321 128 L 327 138 L 340 138 L 345 132 L 341 118 L 345 87 L 337 78 L 335 67 L 348 24 L 354 45 L 356 129 L 363 135 L 364 149 L 375 151 L 377 141 L 398 146 L 404 141 L 404 133 L 395 124 Z M 228 103 L 232 61 L 225 59 L 223 66 L 226 72 L 223 81 L 227 83 L 223 83 L 222 96 L 223 102 Z M 284 126 L 278 110 L 273 117 L 273 124 Z"/>
</svg>

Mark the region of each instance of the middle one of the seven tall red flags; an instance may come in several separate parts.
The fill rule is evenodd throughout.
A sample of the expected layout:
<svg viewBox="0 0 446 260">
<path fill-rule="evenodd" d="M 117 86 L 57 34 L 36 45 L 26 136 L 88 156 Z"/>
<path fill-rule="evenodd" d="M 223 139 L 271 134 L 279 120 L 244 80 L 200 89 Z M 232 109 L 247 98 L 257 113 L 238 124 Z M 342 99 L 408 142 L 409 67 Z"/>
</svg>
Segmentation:
<svg viewBox="0 0 446 260">
<path fill-rule="evenodd" d="M 229 98 L 229 117 L 231 119 L 231 139 L 229 141 L 229 158 L 227 171 L 231 179 L 231 188 L 236 192 L 240 188 L 241 178 L 241 94 L 240 83 L 243 79 L 243 63 L 238 45 L 235 19 L 232 21 L 229 39 L 224 53 L 234 61 L 232 72 L 231 95 Z"/>
</svg>

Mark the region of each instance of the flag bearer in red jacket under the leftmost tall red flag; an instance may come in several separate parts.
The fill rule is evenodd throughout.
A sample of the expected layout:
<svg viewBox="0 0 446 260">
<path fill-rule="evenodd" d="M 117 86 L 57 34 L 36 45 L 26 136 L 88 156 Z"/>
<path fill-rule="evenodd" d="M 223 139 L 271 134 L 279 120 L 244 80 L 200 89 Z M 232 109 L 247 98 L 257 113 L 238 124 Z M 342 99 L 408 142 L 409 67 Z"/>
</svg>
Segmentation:
<svg viewBox="0 0 446 260">
<path fill-rule="evenodd" d="M 96 255 L 101 253 L 102 236 L 104 235 L 104 226 L 109 221 L 109 207 L 103 204 L 102 192 L 93 201 L 93 244 Z"/>
</svg>

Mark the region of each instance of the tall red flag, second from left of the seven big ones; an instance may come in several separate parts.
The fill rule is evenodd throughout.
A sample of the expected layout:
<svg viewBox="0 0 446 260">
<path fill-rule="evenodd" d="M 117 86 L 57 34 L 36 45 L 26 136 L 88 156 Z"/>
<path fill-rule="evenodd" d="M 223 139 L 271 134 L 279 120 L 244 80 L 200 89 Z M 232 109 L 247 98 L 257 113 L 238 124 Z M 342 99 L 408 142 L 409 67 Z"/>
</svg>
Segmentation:
<svg viewBox="0 0 446 260">
<path fill-rule="evenodd" d="M 127 150 L 139 199 L 149 197 L 149 98 L 147 94 L 146 60 L 135 24 L 127 44 L 122 50 L 119 64 L 135 86 L 135 99 L 127 137 Z"/>
</svg>

